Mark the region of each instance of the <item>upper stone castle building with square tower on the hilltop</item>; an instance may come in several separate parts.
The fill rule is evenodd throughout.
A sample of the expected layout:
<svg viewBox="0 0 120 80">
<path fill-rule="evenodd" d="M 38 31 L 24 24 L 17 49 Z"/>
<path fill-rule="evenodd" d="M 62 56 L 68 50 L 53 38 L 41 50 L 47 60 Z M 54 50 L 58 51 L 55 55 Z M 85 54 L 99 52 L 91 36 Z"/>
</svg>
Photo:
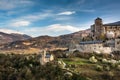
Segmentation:
<svg viewBox="0 0 120 80">
<path fill-rule="evenodd" d="M 103 24 L 101 18 L 95 19 L 95 23 L 91 26 L 92 37 L 100 39 L 101 37 L 117 38 L 120 37 L 120 21 L 116 23 Z"/>
</svg>

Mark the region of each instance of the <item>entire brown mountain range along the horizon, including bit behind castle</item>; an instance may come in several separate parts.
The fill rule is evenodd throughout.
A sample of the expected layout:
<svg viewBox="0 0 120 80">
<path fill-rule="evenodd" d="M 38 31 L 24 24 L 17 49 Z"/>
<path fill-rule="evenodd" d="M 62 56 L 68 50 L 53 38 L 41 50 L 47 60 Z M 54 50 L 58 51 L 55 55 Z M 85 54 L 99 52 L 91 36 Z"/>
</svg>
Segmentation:
<svg viewBox="0 0 120 80">
<path fill-rule="evenodd" d="M 109 25 L 118 25 L 120 21 L 114 23 L 108 23 Z M 104 24 L 104 25 L 108 25 Z M 90 29 L 81 30 L 75 33 L 61 35 L 57 37 L 52 36 L 39 36 L 32 38 L 23 34 L 7 34 L 0 32 L 0 49 L 56 49 L 56 48 L 70 48 L 74 47 L 84 38 L 89 39 Z"/>
</svg>

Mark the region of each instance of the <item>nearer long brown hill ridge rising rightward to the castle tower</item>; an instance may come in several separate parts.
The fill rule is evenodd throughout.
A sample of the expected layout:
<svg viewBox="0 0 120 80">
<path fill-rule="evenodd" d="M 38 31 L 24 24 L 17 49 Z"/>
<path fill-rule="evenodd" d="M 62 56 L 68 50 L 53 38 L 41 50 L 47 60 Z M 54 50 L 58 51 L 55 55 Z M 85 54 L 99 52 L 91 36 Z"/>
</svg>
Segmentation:
<svg viewBox="0 0 120 80">
<path fill-rule="evenodd" d="M 15 41 L 4 45 L 2 49 L 27 49 L 27 48 L 39 48 L 39 49 L 55 49 L 55 48 L 68 48 L 74 46 L 73 44 L 79 43 L 83 37 L 90 34 L 90 29 L 75 32 L 72 34 L 61 35 L 58 37 L 40 36 L 31 38 L 24 41 Z"/>
</svg>

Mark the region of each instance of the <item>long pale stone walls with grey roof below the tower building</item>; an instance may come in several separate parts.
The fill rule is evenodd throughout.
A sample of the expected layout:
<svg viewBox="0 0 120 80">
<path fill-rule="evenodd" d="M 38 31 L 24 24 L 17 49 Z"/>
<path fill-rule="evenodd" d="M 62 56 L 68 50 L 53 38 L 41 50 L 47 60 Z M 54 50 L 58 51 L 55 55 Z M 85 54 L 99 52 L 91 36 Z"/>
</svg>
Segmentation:
<svg viewBox="0 0 120 80">
<path fill-rule="evenodd" d="M 120 51 L 120 39 L 112 39 L 103 41 L 84 41 L 80 42 L 75 49 L 70 49 L 73 52 L 78 50 L 83 53 L 107 53 L 110 54 L 113 51 Z"/>
</svg>

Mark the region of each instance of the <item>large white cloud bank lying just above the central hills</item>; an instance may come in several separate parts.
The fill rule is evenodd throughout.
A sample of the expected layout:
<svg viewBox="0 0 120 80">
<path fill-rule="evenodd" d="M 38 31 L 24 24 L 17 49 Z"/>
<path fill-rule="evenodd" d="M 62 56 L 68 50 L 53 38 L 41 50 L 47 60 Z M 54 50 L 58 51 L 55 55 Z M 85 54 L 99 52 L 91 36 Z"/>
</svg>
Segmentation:
<svg viewBox="0 0 120 80">
<path fill-rule="evenodd" d="M 82 29 L 71 25 L 53 24 L 46 27 L 29 28 L 29 30 L 24 30 L 24 33 L 30 34 L 33 37 L 40 35 L 59 36 L 77 32 L 79 30 Z"/>
</svg>

